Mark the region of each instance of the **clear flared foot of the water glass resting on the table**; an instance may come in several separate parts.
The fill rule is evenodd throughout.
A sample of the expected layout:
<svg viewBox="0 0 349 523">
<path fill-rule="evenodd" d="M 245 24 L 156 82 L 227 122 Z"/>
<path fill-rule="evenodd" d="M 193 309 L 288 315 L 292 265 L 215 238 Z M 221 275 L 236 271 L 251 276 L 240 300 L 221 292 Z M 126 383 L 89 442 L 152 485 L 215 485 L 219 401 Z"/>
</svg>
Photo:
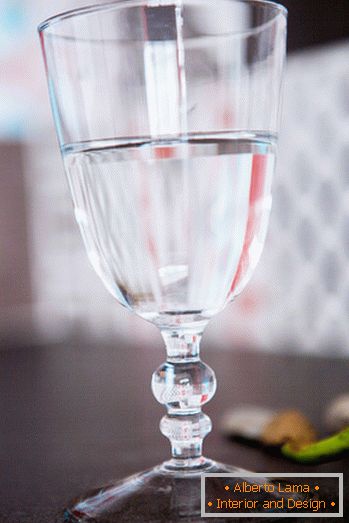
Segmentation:
<svg viewBox="0 0 349 523">
<path fill-rule="evenodd" d="M 231 518 L 201 517 L 201 474 L 203 472 L 234 472 L 243 477 L 243 469 L 202 459 L 195 470 L 171 468 L 171 461 L 129 476 L 79 498 L 65 512 L 66 523 L 213 523 Z M 208 485 L 206 486 L 207 490 Z M 221 497 L 220 482 L 210 482 L 207 494 Z M 279 518 L 273 518 L 277 521 Z M 244 522 L 255 518 L 244 518 Z"/>
</svg>

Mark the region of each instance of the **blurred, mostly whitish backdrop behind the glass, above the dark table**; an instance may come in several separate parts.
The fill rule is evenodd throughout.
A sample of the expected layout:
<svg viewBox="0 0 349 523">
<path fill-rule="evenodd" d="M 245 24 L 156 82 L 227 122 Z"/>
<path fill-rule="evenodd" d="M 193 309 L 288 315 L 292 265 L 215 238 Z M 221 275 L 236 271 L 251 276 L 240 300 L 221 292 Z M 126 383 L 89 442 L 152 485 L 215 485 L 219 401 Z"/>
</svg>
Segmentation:
<svg viewBox="0 0 349 523">
<path fill-rule="evenodd" d="M 36 26 L 86 3 L 0 0 L 4 349 L 72 340 L 117 345 L 131 337 L 146 347 L 159 340 L 90 268 L 53 128 Z M 349 2 L 283 3 L 289 61 L 268 239 L 249 286 L 212 320 L 205 343 L 348 354 Z"/>
</svg>

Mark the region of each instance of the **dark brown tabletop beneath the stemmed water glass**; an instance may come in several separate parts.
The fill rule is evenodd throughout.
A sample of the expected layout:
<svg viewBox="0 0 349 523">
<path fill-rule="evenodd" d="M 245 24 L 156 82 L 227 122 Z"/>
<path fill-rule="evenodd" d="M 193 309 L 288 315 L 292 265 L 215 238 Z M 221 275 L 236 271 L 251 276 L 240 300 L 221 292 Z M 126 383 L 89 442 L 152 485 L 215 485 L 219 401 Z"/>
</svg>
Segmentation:
<svg viewBox="0 0 349 523">
<path fill-rule="evenodd" d="M 225 409 L 250 403 L 300 408 L 321 429 L 324 405 L 349 391 L 348 361 L 220 352 L 205 344 L 203 356 L 219 384 L 205 409 L 215 424 L 207 455 L 256 472 L 347 472 L 348 459 L 304 467 L 233 444 L 218 422 Z M 164 411 L 149 386 L 163 360 L 160 345 L 1 351 L 0 522 L 61 522 L 74 495 L 166 459 L 169 446 L 158 430 Z"/>
</svg>

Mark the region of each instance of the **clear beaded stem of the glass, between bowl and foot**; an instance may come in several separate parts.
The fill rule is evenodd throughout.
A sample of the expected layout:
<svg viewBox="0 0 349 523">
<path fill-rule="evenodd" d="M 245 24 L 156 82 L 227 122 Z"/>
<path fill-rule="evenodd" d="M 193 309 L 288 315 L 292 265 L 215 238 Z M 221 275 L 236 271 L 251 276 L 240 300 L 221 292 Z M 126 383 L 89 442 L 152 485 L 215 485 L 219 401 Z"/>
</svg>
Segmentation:
<svg viewBox="0 0 349 523">
<path fill-rule="evenodd" d="M 166 468 L 188 470 L 208 466 L 202 456 L 204 437 L 211 431 L 211 420 L 201 407 L 216 391 L 213 370 L 200 360 L 200 330 L 162 330 L 167 361 L 153 374 L 155 398 L 166 406 L 160 430 L 171 443 L 172 459 Z"/>
</svg>

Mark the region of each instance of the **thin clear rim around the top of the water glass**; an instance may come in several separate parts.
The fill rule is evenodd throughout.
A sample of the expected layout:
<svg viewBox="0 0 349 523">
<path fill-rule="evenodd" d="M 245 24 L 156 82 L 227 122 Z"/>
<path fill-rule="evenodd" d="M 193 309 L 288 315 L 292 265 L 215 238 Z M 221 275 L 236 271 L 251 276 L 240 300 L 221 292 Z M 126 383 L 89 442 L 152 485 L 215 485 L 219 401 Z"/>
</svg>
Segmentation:
<svg viewBox="0 0 349 523">
<path fill-rule="evenodd" d="M 204 0 L 204 2 L 203 2 L 203 0 L 184 0 L 184 1 L 185 1 L 185 3 L 189 3 L 189 4 L 197 3 L 199 5 L 202 5 L 203 3 L 211 2 L 211 0 Z M 254 4 L 256 6 L 259 5 L 259 6 L 269 7 L 270 9 L 275 10 L 276 14 L 273 18 L 271 18 L 267 22 L 263 22 L 262 24 L 259 24 L 251 29 L 245 29 L 242 31 L 232 31 L 230 33 L 225 33 L 222 35 L 215 35 L 215 36 L 227 36 L 227 34 L 231 35 L 231 36 L 233 36 L 233 35 L 234 36 L 248 36 L 250 34 L 253 35 L 256 32 L 263 29 L 265 26 L 268 26 L 269 24 L 273 23 L 279 15 L 283 15 L 285 18 L 287 18 L 287 15 L 288 15 L 287 8 L 284 5 L 279 4 L 278 2 L 274 2 L 273 0 L 228 0 L 228 1 L 235 2 L 235 3 L 241 3 L 241 4 Z M 175 2 L 176 2 L 176 0 L 173 0 L 173 3 L 175 3 Z M 62 13 L 58 13 L 56 15 L 50 16 L 49 18 L 47 18 L 46 20 L 43 20 L 38 25 L 37 30 L 40 34 L 44 34 L 47 29 L 50 29 L 52 26 L 59 24 L 60 22 L 64 22 L 65 20 L 69 20 L 72 18 L 78 18 L 79 16 L 83 16 L 83 15 L 97 13 L 99 11 L 109 11 L 109 10 L 114 10 L 114 9 L 118 10 L 118 9 L 124 9 L 124 8 L 128 8 L 128 7 L 141 7 L 141 6 L 146 6 L 147 4 L 148 4 L 147 0 L 119 0 L 119 1 L 114 0 L 114 1 L 103 2 L 101 4 L 93 4 L 93 5 L 88 5 L 85 7 L 78 7 L 76 9 L 70 9 L 68 11 L 64 11 Z M 159 4 L 157 4 L 157 5 L 159 5 Z M 149 6 L 152 7 L 151 3 L 149 3 Z M 62 35 L 52 34 L 51 36 L 55 36 L 56 38 L 64 38 L 64 36 L 62 36 Z M 74 37 L 72 37 L 72 38 L 73 38 L 73 40 L 76 39 Z"/>
</svg>

